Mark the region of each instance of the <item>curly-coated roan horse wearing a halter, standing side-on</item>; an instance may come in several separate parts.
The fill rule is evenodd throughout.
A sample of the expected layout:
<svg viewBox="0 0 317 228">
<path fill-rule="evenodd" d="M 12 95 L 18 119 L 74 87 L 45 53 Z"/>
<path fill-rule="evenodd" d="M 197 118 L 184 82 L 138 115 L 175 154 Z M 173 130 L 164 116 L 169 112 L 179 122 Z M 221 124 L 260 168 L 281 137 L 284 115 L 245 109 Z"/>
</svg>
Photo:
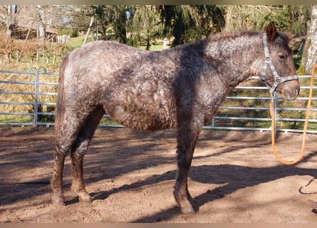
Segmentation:
<svg viewBox="0 0 317 228">
<path fill-rule="evenodd" d="M 287 42 L 270 23 L 264 33 L 219 33 L 165 51 L 95 41 L 69 53 L 61 63 L 56 105 L 53 203 L 64 204 L 68 152 L 71 189 L 80 200 L 91 200 L 83 182 L 83 157 L 100 119 L 108 113 L 128 128 L 177 128 L 174 196 L 182 212 L 196 212 L 187 176 L 202 126 L 235 86 L 262 72 L 262 81 L 271 90 L 286 100 L 296 99 L 299 83 Z"/>
</svg>

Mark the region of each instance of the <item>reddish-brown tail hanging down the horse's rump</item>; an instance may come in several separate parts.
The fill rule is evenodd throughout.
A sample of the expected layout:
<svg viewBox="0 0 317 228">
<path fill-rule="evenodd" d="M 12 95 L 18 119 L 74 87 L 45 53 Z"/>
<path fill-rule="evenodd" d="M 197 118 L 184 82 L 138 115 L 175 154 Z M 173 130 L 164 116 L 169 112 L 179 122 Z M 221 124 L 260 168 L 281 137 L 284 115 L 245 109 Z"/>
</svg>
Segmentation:
<svg viewBox="0 0 317 228">
<path fill-rule="evenodd" d="M 61 67 L 59 68 L 58 92 L 55 108 L 55 132 L 57 133 L 63 122 L 65 113 L 65 95 L 64 95 L 64 73 L 68 63 L 68 55 L 63 58 Z"/>
</svg>

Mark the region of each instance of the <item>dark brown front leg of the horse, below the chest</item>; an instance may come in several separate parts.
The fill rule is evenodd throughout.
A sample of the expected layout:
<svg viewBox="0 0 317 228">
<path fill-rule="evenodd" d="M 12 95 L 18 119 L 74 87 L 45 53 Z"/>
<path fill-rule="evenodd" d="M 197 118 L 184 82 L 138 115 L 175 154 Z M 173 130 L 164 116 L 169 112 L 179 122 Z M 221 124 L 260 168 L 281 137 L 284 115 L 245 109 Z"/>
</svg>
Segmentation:
<svg viewBox="0 0 317 228">
<path fill-rule="evenodd" d="M 194 202 L 189 194 L 187 187 L 187 177 L 194 147 L 199 136 L 201 128 L 179 128 L 177 130 L 177 176 L 174 187 L 174 197 L 177 205 L 183 213 L 193 213 L 197 209 L 194 208 Z"/>
</svg>

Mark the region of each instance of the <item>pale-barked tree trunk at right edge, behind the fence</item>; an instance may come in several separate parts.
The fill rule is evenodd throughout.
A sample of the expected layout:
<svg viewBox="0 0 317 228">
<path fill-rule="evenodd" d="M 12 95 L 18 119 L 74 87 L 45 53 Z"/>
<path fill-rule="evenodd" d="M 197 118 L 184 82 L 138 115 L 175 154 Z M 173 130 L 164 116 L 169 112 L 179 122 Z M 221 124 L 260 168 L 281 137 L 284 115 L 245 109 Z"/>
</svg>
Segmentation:
<svg viewBox="0 0 317 228">
<path fill-rule="evenodd" d="M 317 5 L 311 9 L 311 21 L 308 25 L 307 40 L 303 50 L 301 68 L 305 73 L 311 73 L 317 61 Z"/>
</svg>

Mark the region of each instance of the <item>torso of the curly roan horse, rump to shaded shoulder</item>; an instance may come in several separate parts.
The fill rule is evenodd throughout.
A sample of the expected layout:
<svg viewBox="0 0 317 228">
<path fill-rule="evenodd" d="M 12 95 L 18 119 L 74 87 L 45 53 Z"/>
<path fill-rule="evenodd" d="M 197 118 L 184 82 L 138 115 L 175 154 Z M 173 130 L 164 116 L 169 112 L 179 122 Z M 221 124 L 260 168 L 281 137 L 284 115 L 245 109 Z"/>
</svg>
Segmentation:
<svg viewBox="0 0 317 228">
<path fill-rule="evenodd" d="M 95 41 L 68 56 L 64 87 L 69 103 L 79 109 L 103 105 L 114 120 L 130 128 L 175 128 L 176 72 L 177 65 L 165 53 Z"/>
</svg>

